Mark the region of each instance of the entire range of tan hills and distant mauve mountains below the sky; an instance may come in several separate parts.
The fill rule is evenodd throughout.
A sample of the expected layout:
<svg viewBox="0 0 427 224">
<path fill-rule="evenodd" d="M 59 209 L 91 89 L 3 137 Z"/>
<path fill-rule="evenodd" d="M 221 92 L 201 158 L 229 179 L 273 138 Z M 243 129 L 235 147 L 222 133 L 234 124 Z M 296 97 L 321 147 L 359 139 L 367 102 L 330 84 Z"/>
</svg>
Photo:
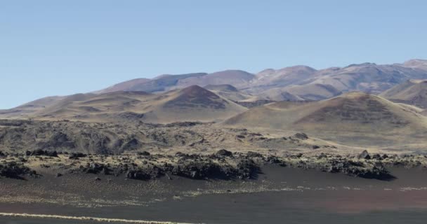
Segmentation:
<svg viewBox="0 0 427 224">
<path fill-rule="evenodd" d="M 421 147 L 427 134 L 426 79 L 427 60 L 421 59 L 322 70 L 291 66 L 259 73 L 162 75 L 37 99 L 0 111 L 0 118 L 202 122 L 266 130 L 272 136 L 305 132 L 351 147 Z"/>
</svg>

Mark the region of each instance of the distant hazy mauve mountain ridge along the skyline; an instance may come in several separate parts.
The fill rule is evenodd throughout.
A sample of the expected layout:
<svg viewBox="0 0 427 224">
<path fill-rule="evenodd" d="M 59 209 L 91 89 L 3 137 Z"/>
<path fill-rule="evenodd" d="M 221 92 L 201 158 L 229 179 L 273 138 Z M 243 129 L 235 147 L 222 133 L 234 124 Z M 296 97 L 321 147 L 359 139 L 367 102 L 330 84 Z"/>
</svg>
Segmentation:
<svg viewBox="0 0 427 224">
<path fill-rule="evenodd" d="M 413 59 L 402 64 L 350 64 L 343 68 L 322 70 L 300 65 L 265 69 L 256 75 L 241 70 L 163 75 L 153 79 L 129 80 L 95 93 L 166 92 L 190 85 L 233 85 L 244 94 L 260 95 L 262 98 L 319 100 L 334 97 L 339 92 L 379 94 L 408 78 L 427 78 L 427 61 Z"/>
</svg>

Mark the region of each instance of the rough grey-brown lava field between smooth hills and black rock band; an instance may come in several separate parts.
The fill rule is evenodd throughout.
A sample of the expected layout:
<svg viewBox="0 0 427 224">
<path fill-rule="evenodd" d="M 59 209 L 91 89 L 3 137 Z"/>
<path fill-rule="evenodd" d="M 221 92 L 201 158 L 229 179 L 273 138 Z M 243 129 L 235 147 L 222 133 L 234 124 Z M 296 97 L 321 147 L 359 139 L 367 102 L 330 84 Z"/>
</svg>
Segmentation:
<svg viewBox="0 0 427 224">
<path fill-rule="evenodd" d="M 343 151 L 336 146 L 296 132 L 272 135 L 256 130 L 223 127 L 215 123 L 86 123 L 79 121 L 0 120 L 2 151 L 67 151 L 69 153 L 121 154 L 213 153 L 221 148 L 230 151 L 321 152 Z"/>
</svg>

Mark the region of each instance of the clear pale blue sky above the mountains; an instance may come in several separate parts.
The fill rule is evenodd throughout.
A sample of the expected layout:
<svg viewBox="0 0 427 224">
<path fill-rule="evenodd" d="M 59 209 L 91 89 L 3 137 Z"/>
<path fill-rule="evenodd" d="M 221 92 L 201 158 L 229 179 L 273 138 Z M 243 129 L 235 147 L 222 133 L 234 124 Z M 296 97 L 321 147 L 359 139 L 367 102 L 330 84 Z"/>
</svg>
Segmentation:
<svg viewBox="0 0 427 224">
<path fill-rule="evenodd" d="M 426 1 L 0 0 L 0 109 L 162 73 L 427 58 Z"/>
</svg>

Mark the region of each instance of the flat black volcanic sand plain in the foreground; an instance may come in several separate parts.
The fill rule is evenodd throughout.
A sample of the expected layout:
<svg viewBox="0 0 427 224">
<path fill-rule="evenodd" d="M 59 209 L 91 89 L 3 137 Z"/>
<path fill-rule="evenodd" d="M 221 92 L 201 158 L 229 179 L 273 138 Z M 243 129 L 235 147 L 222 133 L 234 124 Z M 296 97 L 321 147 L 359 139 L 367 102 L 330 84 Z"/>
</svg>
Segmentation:
<svg viewBox="0 0 427 224">
<path fill-rule="evenodd" d="M 51 195 L 56 194 L 44 195 L 44 190 L 51 189 L 64 194 L 64 199 L 72 197 L 65 192 L 72 193 L 75 189 L 67 189 L 72 185 L 50 188 L 51 181 L 57 181 L 53 177 L 25 183 L 8 180 L 2 183 L 2 195 L 7 195 L 5 185 L 39 186 L 39 194 L 34 194 L 35 190 L 25 192 L 21 187 L 14 193 L 40 201 L 8 203 L 3 200 L 0 209 L 14 214 L 171 223 L 423 223 L 427 218 L 427 174 L 420 168 L 392 169 L 394 181 L 284 167 L 263 170 L 258 180 L 243 182 L 161 179 L 155 181 L 158 191 L 149 190 L 152 181 L 114 179 L 111 184 L 134 189 L 117 195 L 110 195 L 110 189 L 105 187 L 108 183 L 95 184 L 91 177 L 81 177 L 79 185 L 92 186 L 92 190 L 82 191 L 80 198 L 75 198 L 77 203 L 53 201 Z M 1 220 L 6 223 L 107 223 L 7 216 Z"/>
</svg>

